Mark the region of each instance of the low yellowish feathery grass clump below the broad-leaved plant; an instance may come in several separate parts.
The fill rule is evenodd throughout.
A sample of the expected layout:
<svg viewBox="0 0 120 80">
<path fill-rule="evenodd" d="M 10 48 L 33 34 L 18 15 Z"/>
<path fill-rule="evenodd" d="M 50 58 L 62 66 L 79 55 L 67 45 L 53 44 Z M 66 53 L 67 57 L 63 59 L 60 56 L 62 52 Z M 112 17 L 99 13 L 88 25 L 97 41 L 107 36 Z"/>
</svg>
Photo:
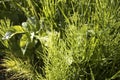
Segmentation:
<svg viewBox="0 0 120 80">
<path fill-rule="evenodd" d="M 6 66 L 6 71 L 10 72 L 10 80 L 13 79 L 32 79 L 33 75 L 33 67 L 28 63 L 28 61 L 22 61 L 19 58 L 15 58 L 14 56 L 9 56 L 4 59 L 3 66 Z M 9 75 L 8 75 L 9 76 Z"/>
</svg>

